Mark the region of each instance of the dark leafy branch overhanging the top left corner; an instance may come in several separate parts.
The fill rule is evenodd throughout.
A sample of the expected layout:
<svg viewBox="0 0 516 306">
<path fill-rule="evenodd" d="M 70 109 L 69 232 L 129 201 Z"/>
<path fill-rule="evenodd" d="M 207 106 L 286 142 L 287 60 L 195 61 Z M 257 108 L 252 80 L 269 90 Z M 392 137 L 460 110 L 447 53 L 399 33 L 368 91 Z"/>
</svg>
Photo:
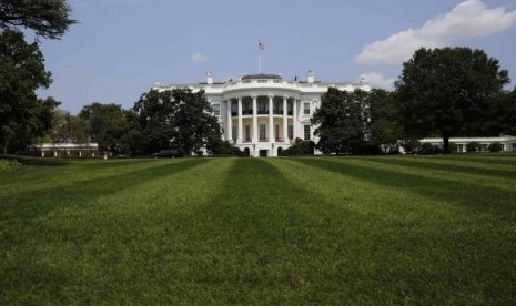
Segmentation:
<svg viewBox="0 0 516 306">
<path fill-rule="evenodd" d="M 0 0 L 0 29 L 31 29 L 48 39 L 61 38 L 75 20 L 65 0 Z"/>
</svg>

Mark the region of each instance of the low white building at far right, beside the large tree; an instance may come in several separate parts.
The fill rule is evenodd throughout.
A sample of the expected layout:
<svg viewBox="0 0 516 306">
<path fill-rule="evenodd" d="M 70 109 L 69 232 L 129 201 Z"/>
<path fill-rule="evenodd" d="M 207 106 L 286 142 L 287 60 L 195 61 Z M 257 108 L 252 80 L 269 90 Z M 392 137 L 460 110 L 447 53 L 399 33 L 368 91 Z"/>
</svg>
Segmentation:
<svg viewBox="0 0 516 306">
<path fill-rule="evenodd" d="M 421 143 L 429 143 L 432 145 L 443 146 L 443 139 L 422 139 Z M 458 153 L 466 152 L 466 144 L 471 142 L 478 143 L 478 151 L 487 152 L 489 144 L 500 143 L 503 152 L 514 152 L 516 151 L 516 137 L 515 136 L 498 136 L 498 137 L 451 137 L 449 143 L 455 144 Z"/>
</svg>

